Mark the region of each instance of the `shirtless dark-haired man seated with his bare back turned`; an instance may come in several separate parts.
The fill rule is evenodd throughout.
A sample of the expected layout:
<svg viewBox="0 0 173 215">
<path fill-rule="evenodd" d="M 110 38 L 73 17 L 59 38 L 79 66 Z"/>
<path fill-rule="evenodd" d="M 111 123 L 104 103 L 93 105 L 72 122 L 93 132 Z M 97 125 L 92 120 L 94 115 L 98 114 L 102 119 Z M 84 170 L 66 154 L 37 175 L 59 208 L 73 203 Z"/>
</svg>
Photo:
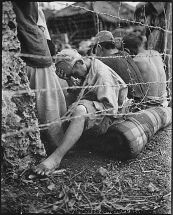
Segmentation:
<svg viewBox="0 0 173 215">
<path fill-rule="evenodd" d="M 166 73 L 159 52 L 145 50 L 141 40 L 134 34 L 126 35 L 123 38 L 123 44 L 124 48 L 135 55 L 133 60 L 141 72 L 147 100 L 167 106 Z"/>
</svg>

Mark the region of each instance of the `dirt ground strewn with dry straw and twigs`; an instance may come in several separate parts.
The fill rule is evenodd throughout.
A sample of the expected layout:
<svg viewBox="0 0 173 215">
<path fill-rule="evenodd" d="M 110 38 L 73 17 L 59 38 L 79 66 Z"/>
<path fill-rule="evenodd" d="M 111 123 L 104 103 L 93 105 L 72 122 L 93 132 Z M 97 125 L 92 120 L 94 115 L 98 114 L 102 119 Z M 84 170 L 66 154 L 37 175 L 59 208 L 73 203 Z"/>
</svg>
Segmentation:
<svg viewBox="0 0 173 215">
<path fill-rule="evenodd" d="M 73 148 L 49 178 L 1 173 L 1 213 L 171 214 L 172 125 L 128 161 Z"/>
</svg>

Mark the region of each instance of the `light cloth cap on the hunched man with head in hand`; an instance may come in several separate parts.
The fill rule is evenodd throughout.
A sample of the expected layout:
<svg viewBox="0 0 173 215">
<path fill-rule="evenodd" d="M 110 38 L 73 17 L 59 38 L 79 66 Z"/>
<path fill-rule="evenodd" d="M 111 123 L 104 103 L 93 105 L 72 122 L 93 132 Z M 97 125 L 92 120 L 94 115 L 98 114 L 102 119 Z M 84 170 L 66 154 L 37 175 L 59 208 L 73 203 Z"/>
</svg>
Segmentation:
<svg viewBox="0 0 173 215">
<path fill-rule="evenodd" d="M 74 64 L 81 59 L 82 56 L 76 49 L 63 49 L 56 55 L 55 66 L 57 69 L 64 70 L 66 75 L 70 76 Z"/>
</svg>

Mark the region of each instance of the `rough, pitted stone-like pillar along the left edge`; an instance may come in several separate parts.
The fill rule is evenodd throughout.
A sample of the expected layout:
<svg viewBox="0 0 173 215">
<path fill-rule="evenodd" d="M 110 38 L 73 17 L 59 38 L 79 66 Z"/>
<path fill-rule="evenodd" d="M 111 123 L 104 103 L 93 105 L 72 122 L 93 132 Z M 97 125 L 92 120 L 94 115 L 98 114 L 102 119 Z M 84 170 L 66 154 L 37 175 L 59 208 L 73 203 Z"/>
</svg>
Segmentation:
<svg viewBox="0 0 173 215">
<path fill-rule="evenodd" d="M 35 94 L 29 88 L 25 63 L 20 53 L 17 23 L 11 2 L 2 4 L 2 119 L 1 158 L 3 169 L 21 172 L 46 155 L 40 140 Z M 21 93 L 25 90 L 25 93 Z M 18 91 L 18 92 L 17 92 Z M 29 132 L 21 129 L 35 127 Z M 3 136 L 4 134 L 15 135 Z"/>
</svg>

